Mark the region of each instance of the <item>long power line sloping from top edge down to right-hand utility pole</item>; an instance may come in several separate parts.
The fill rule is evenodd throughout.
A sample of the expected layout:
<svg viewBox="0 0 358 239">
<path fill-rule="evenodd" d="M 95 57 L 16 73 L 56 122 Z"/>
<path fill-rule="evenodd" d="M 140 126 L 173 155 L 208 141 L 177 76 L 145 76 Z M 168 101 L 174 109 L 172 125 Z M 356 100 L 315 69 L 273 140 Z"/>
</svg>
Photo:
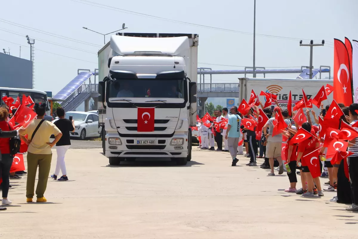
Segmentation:
<svg viewBox="0 0 358 239">
<path fill-rule="evenodd" d="M 188 22 L 185 22 L 185 21 L 178 21 L 178 20 L 173 20 L 173 19 L 169 19 L 169 18 L 162 18 L 162 17 L 159 17 L 159 16 L 154 16 L 154 15 L 149 15 L 149 14 L 144 14 L 144 13 L 138 13 L 138 12 L 135 12 L 135 11 L 116 8 L 114 6 L 95 3 L 95 2 L 87 1 L 87 0 L 77 0 L 77 1 L 70 0 L 70 1 L 80 3 L 80 4 L 89 5 L 89 6 L 94 6 L 94 7 L 97 7 L 97 8 L 103 8 L 103 9 L 113 10 L 113 11 L 120 11 L 122 13 L 127 13 L 127 14 L 132 14 L 132 15 L 137 15 L 137 16 L 143 16 L 143 17 L 153 18 L 153 19 L 158 19 L 158 20 L 163 20 L 163 21 L 169 21 L 169 22 L 173 22 L 173 23 L 180 23 L 180 24 L 193 25 L 193 26 L 202 27 L 202 28 L 222 30 L 222 31 L 226 31 L 226 32 L 234 32 L 234 33 L 253 35 L 253 33 L 250 33 L 250 32 L 242 32 L 242 31 L 237 31 L 237 30 L 231 30 L 231 29 L 225 29 L 225 28 L 217 28 L 217 27 L 211 27 L 211 26 L 200 25 L 200 24 L 195 24 L 195 23 L 188 23 Z M 95 5 L 93 5 L 93 4 L 95 4 Z M 257 34 L 257 33 L 256 33 L 256 35 L 259 35 L 259 36 L 262 36 L 262 37 L 272 37 L 272 38 L 279 38 L 279 39 L 286 39 L 286 40 L 311 40 L 311 39 L 304 39 L 304 38 L 282 37 L 282 36 L 267 35 L 267 34 Z"/>
</svg>

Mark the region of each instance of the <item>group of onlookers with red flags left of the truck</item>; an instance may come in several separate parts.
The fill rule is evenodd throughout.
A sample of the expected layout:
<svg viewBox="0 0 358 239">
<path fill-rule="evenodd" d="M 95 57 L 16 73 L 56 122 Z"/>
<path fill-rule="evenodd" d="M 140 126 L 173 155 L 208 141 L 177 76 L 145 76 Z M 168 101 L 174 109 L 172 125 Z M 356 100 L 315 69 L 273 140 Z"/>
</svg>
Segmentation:
<svg viewBox="0 0 358 239">
<path fill-rule="evenodd" d="M 53 118 L 51 116 L 46 117 L 47 104 L 45 102 L 42 104 L 33 103 L 26 106 L 22 105 L 21 107 L 31 107 L 36 115 L 26 127 L 13 121 L 16 126 L 18 126 L 14 127 L 10 122 L 12 117 L 16 117 L 18 109 L 13 108 L 10 112 L 8 105 L 0 106 L 0 178 L 2 180 L 0 185 L 0 190 L 2 191 L 2 206 L 0 206 L 0 210 L 6 210 L 6 205 L 12 204 L 8 199 L 9 188 L 11 188 L 9 179 L 21 179 L 23 175 L 27 175 L 26 202 L 33 202 L 35 195 L 37 197 L 36 202 L 47 201 L 44 197 L 44 193 L 47 187 L 52 161 L 51 149 L 55 145 L 57 150 L 57 164 L 51 178 L 57 181 L 68 180 L 64 158 L 69 145 L 71 145 L 69 132 L 74 130 L 74 121 L 65 119 L 65 112 L 59 107 L 56 112 L 58 120 L 52 123 L 50 120 L 53 120 Z M 14 128 L 17 129 L 14 130 Z M 54 135 L 55 138 L 50 142 L 52 135 Z M 14 152 L 13 149 L 11 141 L 13 138 L 17 138 L 19 142 L 23 142 L 27 145 L 26 152 L 20 151 L 20 154 L 27 154 L 27 172 L 10 172 L 15 154 L 18 154 L 18 152 Z M 38 182 L 35 191 L 37 169 Z M 60 171 L 62 172 L 62 176 L 57 178 Z"/>
</svg>

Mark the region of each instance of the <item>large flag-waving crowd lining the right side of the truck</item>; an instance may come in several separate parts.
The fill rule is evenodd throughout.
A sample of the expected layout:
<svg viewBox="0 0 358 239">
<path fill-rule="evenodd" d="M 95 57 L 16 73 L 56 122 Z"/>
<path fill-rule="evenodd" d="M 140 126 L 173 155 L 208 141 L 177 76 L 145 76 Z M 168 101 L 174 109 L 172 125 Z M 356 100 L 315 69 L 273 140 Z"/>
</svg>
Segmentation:
<svg viewBox="0 0 358 239">
<path fill-rule="evenodd" d="M 332 147 L 328 145 L 328 142 L 336 139 L 333 139 L 334 135 L 332 136 L 332 133 L 330 133 L 330 136 L 333 138 L 330 138 L 330 136 L 326 136 L 325 132 L 323 134 L 322 132 L 327 129 L 333 130 L 333 128 L 329 128 L 334 127 L 333 125 L 324 126 L 323 119 L 326 119 L 325 115 L 328 112 L 333 112 L 337 107 L 334 107 L 334 105 L 323 107 L 323 104 L 320 103 L 320 115 L 316 115 L 313 110 L 305 109 L 305 111 L 301 111 L 305 112 L 305 119 L 299 123 L 298 119 L 301 120 L 302 116 L 295 118 L 295 112 L 292 112 L 290 115 L 289 110 L 281 109 L 277 101 L 276 107 L 273 110 L 271 107 L 263 107 L 261 102 L 260 106 L 261 109 L 255 105 L 251 106 L 246 115 L 238 112 L 236 106 L 231 107 L 230 114 L 228 114 L 227 108 L 223 108 L 222 111 L 216 111 L 214 113 L 217 117 L 216 119 L 220 116 L 228 119 L 227 129 L 221 129 L 221 134 L 216 132 L 216 137 L 212 136 L 214 132 L 212 130 L 214 128 L 213 122 L 202 118 L 198 125 L 200 135 L 199 148 L 215 150 L 214 138 L 217 142 L 216 151 L 228 151 L 232 157 L 232 166 L 236 166 L 239 161 L 237 155 L 243 155 L 243 145 L 245 145 L 245 157 L 250 158 L 250 161 L 246 164 L 247 166 L 257 166 L 256 158 L 264 158 L 265 160 L 260 167 L 270 169 L 267 176 L 275 176 L 275 168 L 279 175 L 286 171 L 289 179 L 289 184 L 287 183 L 287 185 L 289 187 L 285 192 L 312 197 L 315 195 L 324 196 L 324 191 L 337 190 L 337 196 L 333 197 L 330 201 L 352 204 L 347 210 L 358 211 L 358 125 L 355 124 L 358 120 L 358 104 L 354 103 L 349 106 L 337 104 L 337 107 L 342 110 L 342 115 L 339 116 L 340 121 L 336 134 L 340 132 L 339 129 L 342 131 L 343 127 L 346 127 L 345 130 L 347 131 L 349 126 L 343 125 L 346 124 L 352 126 L 351 129 L 355 130 L 357 137 L 351 140 L 343 137 L 345 140 L 337 141 L 339 143 L 343 141 L 347 142 L 348 148 L 345 146 L 344 149 L 339 151 L 339 154 L 337 153 L 334 156 L 327 152 L 329 147 Z M 262 119 L 260 111 L 267 116 L 267 122 L 265 125 L 261 125 L 262 130 L 257 129 L 258 125 L 255 128 L 246 128 L 242 121 L 252 119 L 258 122 L 260 117 Z M 335 115 L 333 114 L 332 118 Z M 274 134 L 275 127 L 278 124 L 277 120 L 280 117 L 281 121 L 284 122 L 284 129 L 281 129 L 280 133 L 276 132 Z M 206 122 L 203 120 L 206 120 Z M 211 125 L 209 126 L 208 123 Z M 302 130 L 301 128 L 305 132 L 308 132 L 310 136 L 297 143 L 295 141 L 300 138 L 297 131 Z M 257 132 L 262 132 L 261 137 L 258 137 Z M 224 139 L 224 150 L 222 150 L 222 139 L 218 137 Z M 208 142 L 207 139 L 209 139 Z M 324 144 L 325 141 L 327 144 Z M 258 148 L 260 149 L 259 154 Z M 338 148 L 335 150 L 338 150 Z M 319 176 L 317 172 L 315 174 L 311 172 L 313 170 L 310 167 L 313 164 L 312 159 L 306 158 L 306 156 L 313 152 L 318 153 Z M 347 153 L 346 156 L 344 156 L 345 153 Z M 334 161 L 334 163 L 331 163 L 331 161 Z M 297 176 L 300 177 L 302 184 L 300 188 L 297 187 Z M 321 188 L 320 178 L 329 179 L 328 182 L 324 183 L 324 188 Z"/>
</svg>

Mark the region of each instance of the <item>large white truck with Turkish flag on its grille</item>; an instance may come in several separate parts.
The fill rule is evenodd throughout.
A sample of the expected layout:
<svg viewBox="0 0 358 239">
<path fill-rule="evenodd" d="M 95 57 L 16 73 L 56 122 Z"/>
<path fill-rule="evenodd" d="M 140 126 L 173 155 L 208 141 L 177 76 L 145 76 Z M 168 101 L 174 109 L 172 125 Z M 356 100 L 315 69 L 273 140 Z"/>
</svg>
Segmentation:
<svg viewBox="0 0 358 239">
<path fill-rule="evenodd" d="M 198 43 L 197 34 L 120 33 L 98 52 L 98 113 L 111 165 L 191 160 Z"/>
</svg>

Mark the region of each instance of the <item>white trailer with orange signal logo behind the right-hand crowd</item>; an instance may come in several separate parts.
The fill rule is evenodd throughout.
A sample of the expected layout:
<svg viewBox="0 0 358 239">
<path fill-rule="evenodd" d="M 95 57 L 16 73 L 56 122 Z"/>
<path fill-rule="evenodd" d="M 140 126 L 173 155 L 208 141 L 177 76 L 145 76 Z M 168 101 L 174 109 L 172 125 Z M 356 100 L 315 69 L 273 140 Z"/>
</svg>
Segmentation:
<svg viewBox="0 0 358 239">
<path fill-rule="evenodd" d="M 265 104 L 265 97 L 260 96 L 260 92 L 270 92 L 277 95 L 277 101 L 282 109 L 287 109 L 289 95 L 291 91 L 292 107 L 303 97 L 302 89 L 308 98 L 315 97 L 319 89 L 326 84 L 333 85 L 333 80 L 309 80 L 309 79 L 281 79 L 281 78 L 239 78 L 240 81 L 240 102 L 242 99 L 250 99 L 251 90 L 255 91 L 262 104 Z M 333 94 L 328 96 L 328 101 L 324 100 L 324 106 L 332 103 Z M 339 103 L 339 102 L 337 102 Z M 272 106 L 276 106 L 275 103 Z M 317 115 L 320 109 L 313 106 Z"/>
</svg>

